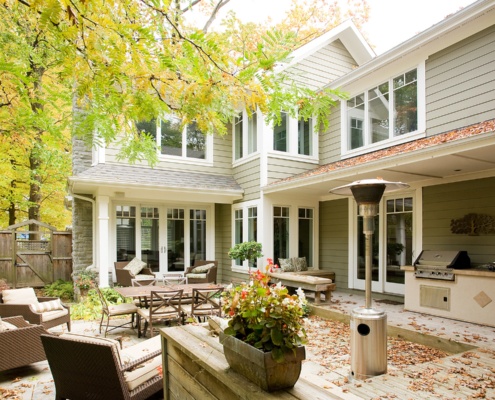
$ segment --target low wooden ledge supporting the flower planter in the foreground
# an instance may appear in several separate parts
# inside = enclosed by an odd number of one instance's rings
[[[331,393],[340,390],[324,389],[314,383],[317,379],[310,381],[301,376],[291,389],[267,392],[229,367],[218,336],[205,326],[164,328],[160,334],[165,399],[307,400],[333,398]]]

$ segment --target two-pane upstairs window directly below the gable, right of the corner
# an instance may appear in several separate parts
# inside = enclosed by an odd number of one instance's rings
[[[313,135],[313,119],[291,118],[286,112],[280,118],[280,123],[273,127],[273,150],[312,156],[317,139]]]

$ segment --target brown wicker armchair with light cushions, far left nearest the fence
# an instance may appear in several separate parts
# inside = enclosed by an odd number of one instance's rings
[[[39,303],[59,300],[58,297],[38,297],[37,299]],[[3,302],[2,293],[0,293],[0,317],[15,317],[21,315],[29,323],[41,325],[45,329],[50,329],[54,326],[67,324],[67,329],[70,331],[70,307],[65,304],[62,304],[62,307],[63,310],[35,312],[32,309],[31,304],[5,304]]]

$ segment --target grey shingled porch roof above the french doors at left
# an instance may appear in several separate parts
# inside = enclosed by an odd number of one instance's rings
[[[228,175],[173,171],[123,164],[97,164],[72,177],[71,180],[95,184],[152,186],[163,189],[243,192],[235,179]]]

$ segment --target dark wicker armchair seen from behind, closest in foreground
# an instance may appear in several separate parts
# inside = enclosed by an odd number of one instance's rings
[[[41,335],[55,399],[147,399],[163,388],[161,338],[120,350],[116,340],[72,333]]]

